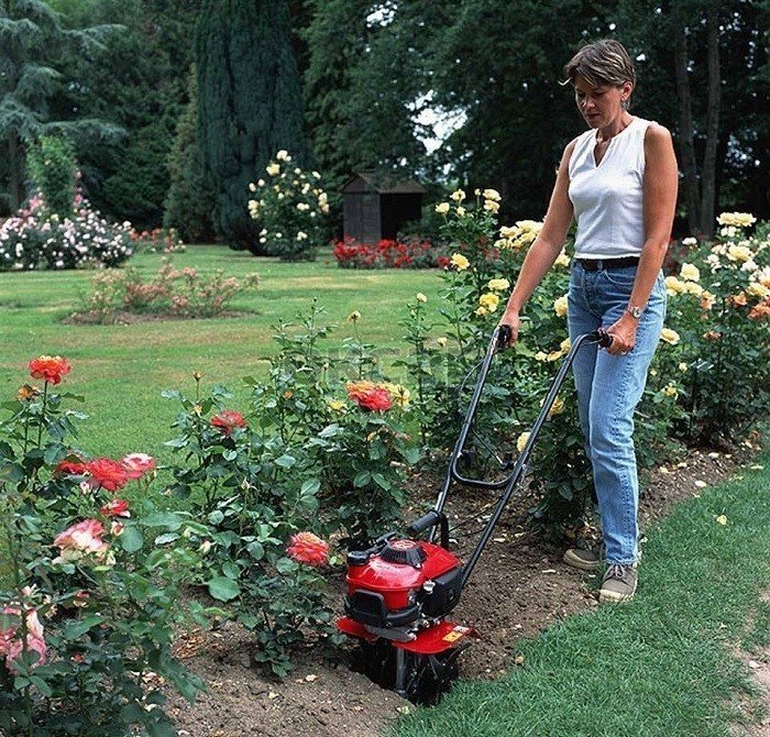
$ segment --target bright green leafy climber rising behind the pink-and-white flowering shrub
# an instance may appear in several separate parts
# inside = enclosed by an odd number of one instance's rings
[[[42,135],[26,154],[30,179],[52,212],[64,218],[73,213],[77,164],[66,139]]]

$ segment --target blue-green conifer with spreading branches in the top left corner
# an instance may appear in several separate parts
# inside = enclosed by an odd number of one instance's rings
[[[7,161],[11,209],[24,199],[24,151],[38,135],[114,135],[114,128],[95,119],[52,120],[48,102],[62,78],[56,64],[64,52],[103,48],[116,30],[109,24],[65,29],[59,13],[42,0],[0,0],[0,157]]]

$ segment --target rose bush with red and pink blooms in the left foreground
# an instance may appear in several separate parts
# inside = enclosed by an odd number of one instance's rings
[[[163,680],[190,700],[201,688],[172,640],[205,623],[178,600],[206,528],[154,509],[148,455],[88,459],[70,444],[82,416],[55,388],[67,361],[30,370],[43,388],[22,386],[0,425],[0,729],[170,734]]]

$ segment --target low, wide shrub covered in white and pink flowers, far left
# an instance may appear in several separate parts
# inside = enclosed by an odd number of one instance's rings
[[[36,195],[0,226],[0,271],[118,266],[133,254],[130,231],[130,223],[109,223],[79,195],[66,218]]]

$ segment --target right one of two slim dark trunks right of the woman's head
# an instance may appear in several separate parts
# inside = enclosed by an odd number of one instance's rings
[[[722,74],[719,69],[719,21],[716,10],[706,16],[706,52],[708,68],[708,98],[706,107],[706,147],[703,152],[700,226],[704,235],[714,234],[714,204],[716,202],[716,150],[719,143],[719,105]]]

